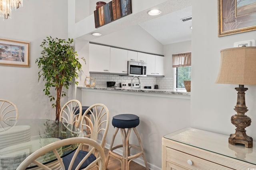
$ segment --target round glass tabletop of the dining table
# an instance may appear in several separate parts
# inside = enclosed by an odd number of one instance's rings
[[[0,121],[0,170],[16,170],[19,164],[34,151],[58,140],[82,137],[80,129],[68,123],[48,119],[18,119]],[[58,149],[65,156],[77,145],[68,145]],[[37,159],[48,164],[54,162],[53,153],[47,153]],[[31,164],[29,168],[35,168]]]

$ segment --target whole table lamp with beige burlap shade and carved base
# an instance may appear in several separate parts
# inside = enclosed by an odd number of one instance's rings
[[[245,113],[248,111],[245,105],[244,85],[256,85],[256,47],[235,47],[220,51],[220,71],[216,83],[238,84],[235,88],[237,102],[234,110],[236,115],[231,117],[231,123],[236,126],[236,133],[231,134],[228,142],[231,145],[244,144],[252,147],[252,137],[246,135],[245,128],[251,125],[251,119]]]

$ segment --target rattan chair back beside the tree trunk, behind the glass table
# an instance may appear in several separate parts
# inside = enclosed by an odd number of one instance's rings
[[[79,112],[78,114],[75,114]],[[76,127],[80,126],[82,119],[82,105],[79,100],[70,100],[62,107],[60,111],[60,121],[69,123]]]

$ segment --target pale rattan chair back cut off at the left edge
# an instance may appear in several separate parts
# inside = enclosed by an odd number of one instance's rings
[[[18,109],[12,102],[0,99],[0,121],[18,119]]]

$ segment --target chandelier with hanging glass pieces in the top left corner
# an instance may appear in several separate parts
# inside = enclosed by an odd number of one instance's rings
[[[12,10],[22,6],[22,0],[0,0],[0,17],[11,18]]]

